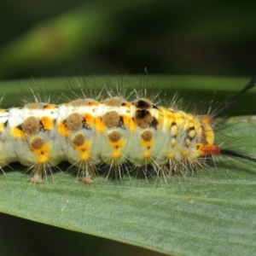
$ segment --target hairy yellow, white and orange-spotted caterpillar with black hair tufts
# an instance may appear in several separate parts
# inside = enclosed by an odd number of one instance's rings
[[[214,155],[256,161],[214,144],[212,119],[255,79],[221,103],[211,115],[194,115],[157,106],[147,97],[131,102],[122,96],[101,101],[85,96],[60,105],[35,101],[0,109],[0,167],[20,162],[32,171],[31,183],[43,183],[52,166],[68,161],[79,180],[94,183],[97,170],[108,176],[153,170],[183,174]],[[103,167],[102,167],[103,166]]]

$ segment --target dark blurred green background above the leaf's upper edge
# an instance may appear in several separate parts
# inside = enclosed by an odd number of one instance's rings
[[[0,79],[255,74],[254,1],[0,3]]]

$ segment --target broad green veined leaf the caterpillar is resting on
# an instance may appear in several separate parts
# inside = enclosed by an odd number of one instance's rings
[[[136,86],[135,80],[138,78],[131,77]],[[205,84],[206,95],[212,93],[211,86],[242,87],[247,83],[247,79],[160,77],[159,87],[165,90],[167,84],[180,86],[184,81],[189,93],[191,87],[195,89],[194,84],[201,91],[201,84]],[[15,93],[17,88],[9,84],[15,83],[3,82],[0,88],[11,88]],[[61,79],[58,83],[45,79],[45,84],[55,84],[55,90],[65,87],[60,85]],[[245,96],[252,95],[255,90]],[[224,148],[255,156],[255,117],[229,119],[224,129],[217,132],[217,143],[223,142]],[[256,163],[222,156],[215,158],[215,165],[166,180],[125,177],[113,181],[99,176],[93,185],[77,182],[74,174],[66,172],[66,163],[61,165],[63,172],[56,172],[44,184],[34,185],[27,182],[28,174],[20,172],[25,168],[17,165],[12,171],[4,169],[6,175],[1,176],[0,211],[160,253],[253,255]]]

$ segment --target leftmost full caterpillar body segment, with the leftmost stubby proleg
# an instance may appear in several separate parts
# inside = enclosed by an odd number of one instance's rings
[[[6,112],[9,113],[5,122],[6,141],[13,148],[9,154],[32,169],[32,183],[42,183],[50,167],[65,159],[55,131],[57,106],[40,102],[23,108],[9,108]]]

